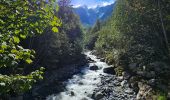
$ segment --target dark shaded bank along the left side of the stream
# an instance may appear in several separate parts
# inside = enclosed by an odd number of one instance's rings
[[[73,75],[80,73],[81,69],[86,67],[88,61],[85,55],[76,61],[74,64],[61,65],[53,70],[46,70],[44,79],[39,81],[33,88],[24,94],[24,100],[45,100],[48,95],[57,94],[64,91],[64,81],[71,78]],[[55,68],[55,67],[53,67]]]

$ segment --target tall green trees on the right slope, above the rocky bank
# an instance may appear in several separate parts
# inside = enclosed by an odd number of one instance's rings
[[[170,3],[168,0],[160,3],[166,31],[169,32]],[[116,49],[121,55],[128,56],[128,63],[161,60],[161,57],[167,56],[168,50],[165,48],[159,11],[158,2],[154,0],[118,0],[112,17],[98,32],[93,33],[98,34],[95,49],[108,53]],[[146,59],[147,62],[144,61]]]

